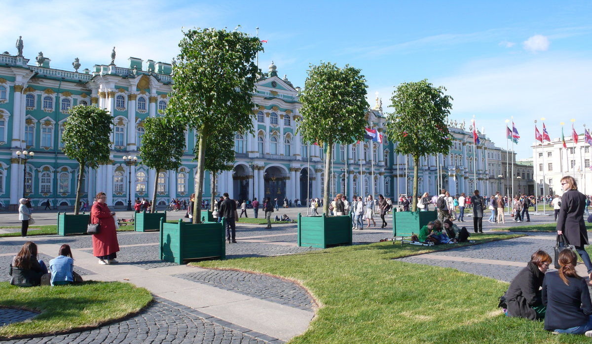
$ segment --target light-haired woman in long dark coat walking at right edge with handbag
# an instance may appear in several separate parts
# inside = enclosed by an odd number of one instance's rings
[[[571,176],[565,176],[561,179],[561,187],[564,190],[561,196],[561,208],[557,216],[557,234],[564,235],[568,244],[575,246],[582,261],[588,270],[588,277],[592,280],[592,262],[584,245],[588,243],[588,232],[584,223],[584,208],[586,206],[586,196],[578,191],[578,185]],[[564,242],[560,243],[561,246]]]

